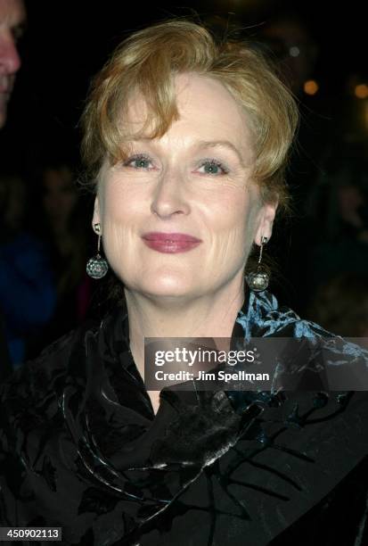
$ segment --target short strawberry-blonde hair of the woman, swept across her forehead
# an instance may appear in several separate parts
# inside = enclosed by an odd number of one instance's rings
[[[124,159],[132,140],[127,120],[129,98],[138,93],[147,103],[143,133],[163,136],[179,117],[175,76],[194,72],[217,79],[247,113],[253,136],[253,179],[265,201],[287,202],[284,170],[298,125],[298,108],[290,91],[266,59],[243,42],[217,44],[208,29],[186,20],[165,21],[139,30],[112,54],[94,78],[82,116],[82,158],[95,185],[102,162]]]

